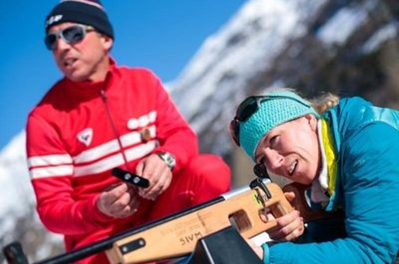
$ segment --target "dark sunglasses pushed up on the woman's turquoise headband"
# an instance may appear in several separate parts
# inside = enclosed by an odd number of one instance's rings
[[[235,117],[230,122],[229,130],[234,142],[238,146],[240,146],[239,142],[240,122],[247,121],[253,114],[255,114],[255,112],[259,109],[261,102],[273,99],[282,99],[282,98],[294,100],[302,105],[311,107],[305,101],[300,101],[296,98],[283,96],[283,95],[250,96],[246,98],[244,101],[242,101],[242,103],[238,106],[237,112],[235,113]]]

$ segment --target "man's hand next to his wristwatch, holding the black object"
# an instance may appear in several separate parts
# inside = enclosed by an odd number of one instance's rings
[[[142,159],[136,167],[136,174],[150,181],[150,187],[139,189],[139,195],[150,200],[155,200],[172,182],[172,171],[157,154]]]

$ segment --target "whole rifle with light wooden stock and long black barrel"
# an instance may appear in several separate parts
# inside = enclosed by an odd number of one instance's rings
[[[303,190],[296,192],[296,197],[302,197],[303,193]],[[102,251],[111,264],[183,257],[192,253],[200,238],[229,226],[234,226],[244,238],[252,238],[275,227],[274,220],[261,220],[259,214],[263,210],[270,210],[275,217],[280,217],[294,209],[277,184],[257,178],[250,188],[233,190],[209,202],[36,264],[68,264]],[[312,217],[306,215],[304,219],[312,220]],[[9,244],[3,252],[8,264],[27,264],[18,243]]]

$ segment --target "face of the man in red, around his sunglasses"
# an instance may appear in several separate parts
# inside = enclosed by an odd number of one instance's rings
[[[56,33],[76,23],[65,22],[49,29]],[[89,31],[77,43],[67,43],[58,38],[52,50],[55,62],[62,73],[72,81],[99,81],[105,78],[108,71],[108,50],[112,39],[95,31]]]

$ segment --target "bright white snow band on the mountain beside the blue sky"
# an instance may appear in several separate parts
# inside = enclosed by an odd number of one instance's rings
[[[325,2],[247,2],[218,33],[204,42],[183,73],[171,84],[172,94],[184,115],[191,119],[209,96],[222,103],[236,92],[234,96],[241,99],[246,82],[265,66],[270,67],[270,62],[288,40],[306,33],[309,17],[314,16]],[[194,94],[195,100],[192,100]]]

